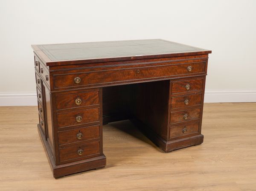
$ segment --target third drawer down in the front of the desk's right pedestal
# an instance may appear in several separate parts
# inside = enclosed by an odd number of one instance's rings
[[[200,108],[171,112],[171,124],[200,119]]]

